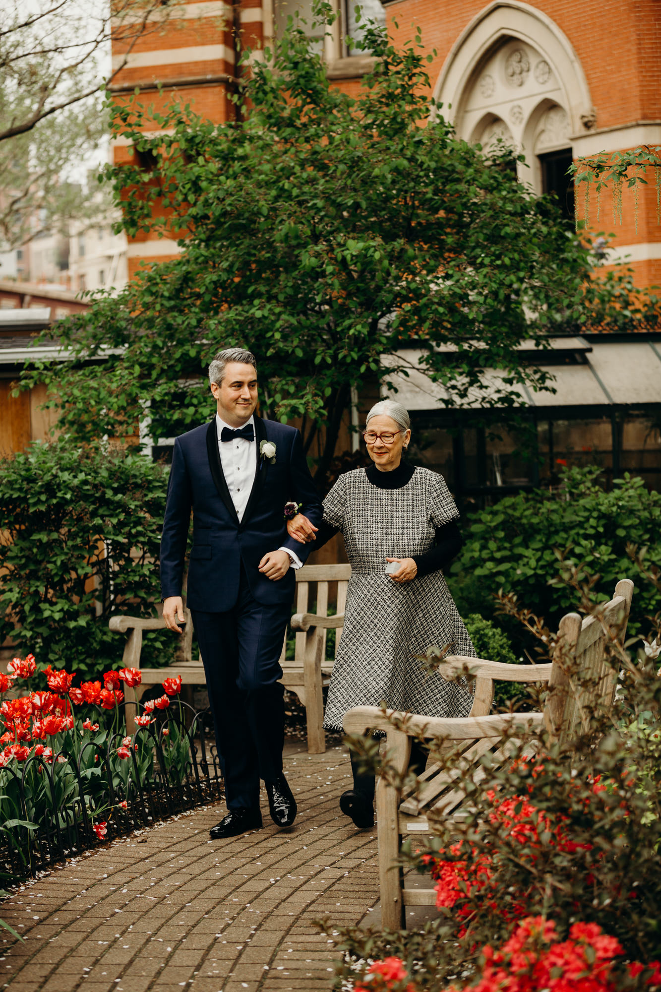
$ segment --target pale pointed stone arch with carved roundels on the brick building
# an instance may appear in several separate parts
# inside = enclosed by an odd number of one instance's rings
[[[487,63],[499,50],[505,51],[498,69],[501,75],[497,78],[497,73],[487,70],[490,67]],[[499,83],[515,96],[523,93],[533,80],[537,87],[556,84],[555,102],[567,114],[570,137],[585,134],[595,125],[588,80],[567,36],[551,18],[530,4],[494,0],[470,22],[453,46],[434,95],[443,103],[441,113],[467,139],[469,135],[463,126],[465,103],[475,87],[479,87],[485,99]],[[510,127],[517,127],[527,116],[525,108],[517,110],[517,106],[514,103],[509,107]],[[474,130],[474,122],[470,130]]]

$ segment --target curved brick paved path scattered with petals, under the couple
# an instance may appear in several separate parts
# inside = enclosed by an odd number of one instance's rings
[[[288,748],[295,828],[210,841],[208,806],[31,881],[0,906],[26,937],[0,946],[12,992],[322,992],[333,952],[312,921],[357,923],[378,899],[376,831],[337,806],[339,747]],[[264,799],[264,797],[263,797]],[[4,931],[0,931],[4,932]]]

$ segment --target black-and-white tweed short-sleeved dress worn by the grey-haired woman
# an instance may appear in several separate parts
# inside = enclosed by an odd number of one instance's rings
[[[428,673],[415,655],[436,645],[475,656],[442,571],[393,582],[386,558],[434,547],[436,528],[459,520],[445,479],[416,468],[400,489],[380,489],[364,468],[340,475],[324,500],[324,521],[342,532],[351,565],[344,629],[332,670],[324,726],[341,730],[352,706],[380,706],[423,716],[467,716],[462,682]]]

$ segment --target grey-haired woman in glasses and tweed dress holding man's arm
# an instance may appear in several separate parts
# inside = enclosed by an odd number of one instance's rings
[[[351,564],[324,726],[341,730],[352,706],[382,703],[424,716],[466,716],[467,687],[428,674],[415,659],[430,645],[475,657],[443,574],[462,547],[455,501],[442,475],[402,461],[411,430],[401,404],[372,407],[363,437],[374,464],[339,476],[319,533],[301,513],[288,525],[292,537],[319,546],[341,531]],[[412,765],[424,767],[425,759],[414,742]],[[361,776],[353,757],[351,764],[354,788],[339,805],[356,826],[369,827],[374,778]]]

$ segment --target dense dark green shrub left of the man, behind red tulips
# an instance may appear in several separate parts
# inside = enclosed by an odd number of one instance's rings
[[[114,666],[115,612],[153,614],[165,470],[139,454],[66,438],[0,460],[0,641],[82,679]],[[167,632],[144,664],[168,663]],[[151,657],[150,657],[151,656]]]

